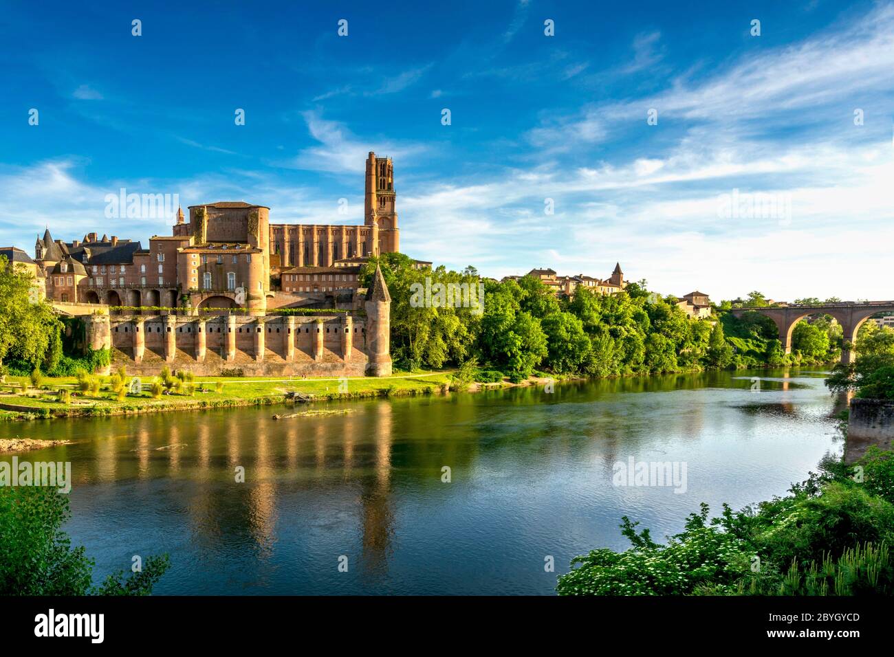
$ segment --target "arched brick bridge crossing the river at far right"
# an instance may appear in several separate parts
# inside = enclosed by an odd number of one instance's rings
[[[841,362],[852,363],[856,357],[856,333],[860,326],[877,313],[894,312],[894,301],[841,301],[818,305],[789,305],[733,308],[733,316],[741,317],[754,310],[763,316],[770,317],[780,332],[780,342],[787,354],[791,353],[791,333],[800,320],[811,315],[831,315],[835,317],[844,330],[844,346],[841,349]]]

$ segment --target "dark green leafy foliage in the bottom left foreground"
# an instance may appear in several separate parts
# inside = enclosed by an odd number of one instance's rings
[[[148,595],[170,568],[166,554],[151,556],[140,572],[93,585],[94,560],[61,529],[70,515],[55,488],[0,488],[0,595]]]

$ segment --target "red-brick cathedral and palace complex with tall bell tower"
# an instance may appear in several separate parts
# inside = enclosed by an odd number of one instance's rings
[[[54,240],[47,229],[33,261],[45,277],[46,298],[252,313],[321,305],[353,295],[370,256],[400,249],[393,163],[373,152],[363,225],[270,223],[269,207],[243,201],[188,209],[188,220],[178,209],[172,233],[149,238],[148,248],[95,232]]]

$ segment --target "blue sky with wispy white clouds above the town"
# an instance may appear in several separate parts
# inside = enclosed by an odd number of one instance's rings
[[[359,223],[375,150],[436,264],[894,298],[890,2],[13,2],[0,34],[0,246],[169,234],[106,219],[122,187]]]

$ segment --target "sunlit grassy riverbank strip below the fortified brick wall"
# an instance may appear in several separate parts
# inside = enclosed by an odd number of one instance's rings
[[[199,376],[192,386],[195,392],[174,392],[153,398],[150,386],[155,376],[140,377],[143,392],[128,394],[119,401],[112,392],[110,376],[99,377],[102,389],[97,395],[80,392],[74,377],[45,377],[40,388],[33,386],[21,392],[20,383],[30,383],[25,376],[7,376],[0,383],[0,404],[27,407],[33,411],[0,409],[0,420],[23,417],[52,417],[72,415],[114,415],[178,409],[205,409],[227,406],[251,406],[274,404],[284,400],[287,392],[299,391],[313,395],[316,400],[354,399],[391,395],[430,394],[440,392],[443,383],[450,379],[451,371],[395,373],[390,377],[349,377],[344,379],[299,377],[220,377]],[[133,377],[128,376],[128,381]],[[223,390],[217,392],[216,383],[223,382]],[[206,392],[201,392],[202,389]],[[59,400],[58,392],[72,393],[70,403]]]

